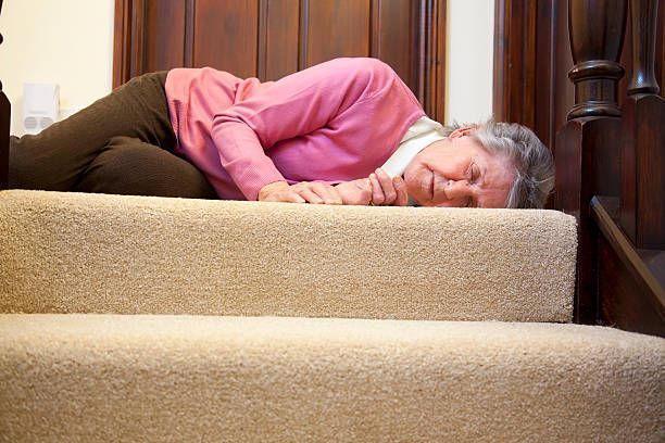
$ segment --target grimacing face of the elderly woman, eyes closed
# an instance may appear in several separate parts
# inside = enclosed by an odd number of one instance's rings
[[[406,166],[409,195],[421,206],[505,207],[514,167],[461,128],[421,151]]]

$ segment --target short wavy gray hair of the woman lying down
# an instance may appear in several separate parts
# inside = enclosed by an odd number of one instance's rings
[[[464,125],[466,126],[466,125]],[[515,181],[506,207],[542,208],[554,188],[552,152],[526,126],[488,121],[476,126],[469,136],[488,152],[506,157],[515,167]],[[461,127],[446,126],[446,135]]]

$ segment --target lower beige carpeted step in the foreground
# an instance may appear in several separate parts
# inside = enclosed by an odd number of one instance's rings
[[[577,325],[1,315],[0,435],[655,442],[664,357]]]

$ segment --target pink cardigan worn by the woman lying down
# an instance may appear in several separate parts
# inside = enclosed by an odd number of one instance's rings
[[[278,180],[367,177],[425,115],[376,59],[336,59],[266,83],[177,68],[166,78],[166,97],[176,153],[227,200],[256,200]]]

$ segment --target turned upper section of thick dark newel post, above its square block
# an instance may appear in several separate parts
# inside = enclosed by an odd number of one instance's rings
[[[568,73],[575,84],[575,105],[568,119],[622,115],[616,91],[624,76],[618,60],[626,10],[627,2],[622,0],[568,1],[568,33],[575,63]]]

